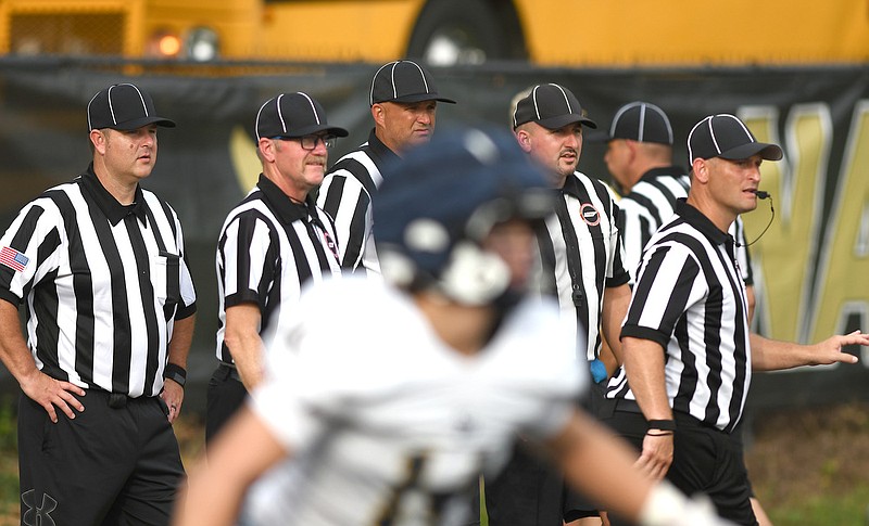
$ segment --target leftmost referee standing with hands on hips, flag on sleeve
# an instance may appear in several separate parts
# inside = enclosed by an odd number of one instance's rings
[[[175,210],[140,185],[158,126],[175,123],[140,88],[97,93],[92,163],[0,239],[0,357],[26,395],[22,524],[168,522],[196,293]]]

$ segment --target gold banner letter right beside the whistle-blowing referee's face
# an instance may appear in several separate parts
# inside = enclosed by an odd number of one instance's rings
[[[778,140],[778,113],[772,107],[747,106],[739,112],[758,141]],[[750,248],[758,287],[758,308],[766,336],[803,341],[811,302],[811,280],[818,229],[823,214],[823,191],[832,142],[830,111],[826,104],[803,104],[789,113],[782,144],[785,158],[765,162],[760,189],[772,196],[776,218]],[[745,214],[746,239],[757,239],[769,222],[769,205]]]

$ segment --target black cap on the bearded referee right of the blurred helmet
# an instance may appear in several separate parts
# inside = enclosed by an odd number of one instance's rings
[[[576,95],[557,84],[541,84],[531,88],[527,97],[519,100],[513,113],[513,129],[525,123],[557,130],[572,123],[597,128],[594,120],[585,116]]]

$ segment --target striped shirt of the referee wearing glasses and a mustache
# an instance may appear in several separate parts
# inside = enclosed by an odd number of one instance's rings
[[[308,281],[341,274],[331,218],[308,196],[293,203],[261,175],[256,187],[227,216],[217,242],[217,359],[232,363],[224,343],[226,309],[254,303],[260,334],[280,322],[284,306],[299,300]]]

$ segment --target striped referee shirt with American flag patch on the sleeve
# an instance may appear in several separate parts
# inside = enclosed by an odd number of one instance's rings
[[[92,165],[28,203],[0,239],[0,297],[24,302],[49,376],[130,397],[163,388],[176,319],[196,312],[175,210],[136,189],[118,203]]]

